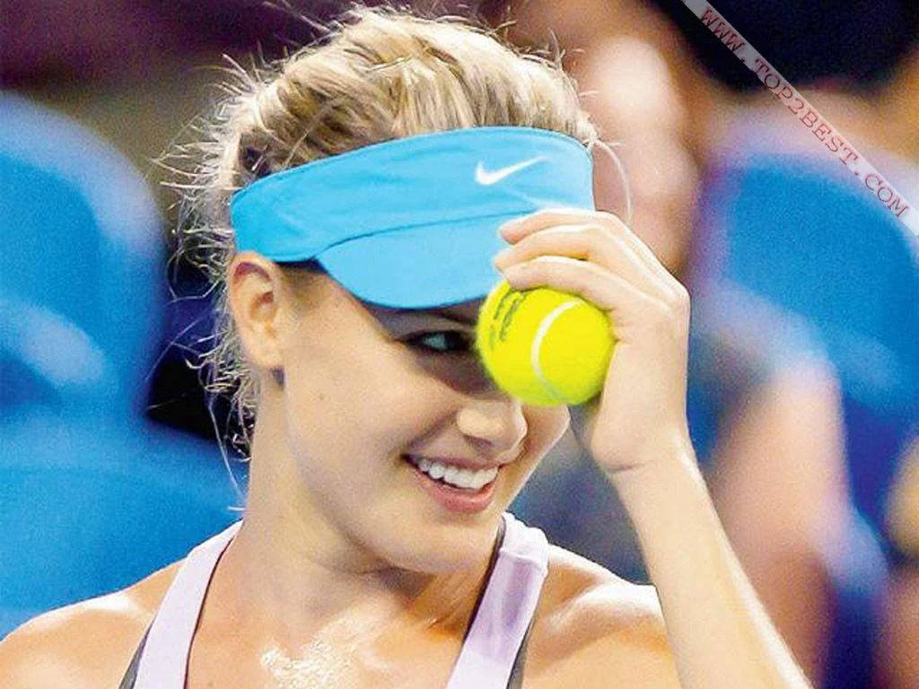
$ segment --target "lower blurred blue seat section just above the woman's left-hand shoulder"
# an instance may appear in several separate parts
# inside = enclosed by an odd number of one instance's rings
[[[142,579],[240,517],[215,446],[153,424],[5,410],[0,456],[0,638]]]

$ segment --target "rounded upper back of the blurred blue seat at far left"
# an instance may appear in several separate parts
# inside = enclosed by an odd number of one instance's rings
[[[166,289],[162,220],[141,175],[70,120],[0,93],[0,218],[0,291],[100,344],[121,389],[107,408],[141,409]]]

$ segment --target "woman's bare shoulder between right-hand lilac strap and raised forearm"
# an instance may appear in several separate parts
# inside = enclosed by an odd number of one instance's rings
[[[655,588],[550,545],[524,676],[533,689],[620,683],[677,689]]]

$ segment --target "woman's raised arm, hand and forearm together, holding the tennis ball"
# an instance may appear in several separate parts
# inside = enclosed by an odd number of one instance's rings
[[[505,223],[513,288],[578,294],[617,339],[606,385],[573,431],[618,491],[664,612],[683,689],[806,689],[734,554],[689,442],[689,297],[615,216],[545,210]]]

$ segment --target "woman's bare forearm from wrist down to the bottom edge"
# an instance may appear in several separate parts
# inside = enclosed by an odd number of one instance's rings
[[[810,688],[733,553],[692,446],[662,443],[654,455],[611,480],[661,600],[683,689]]]

